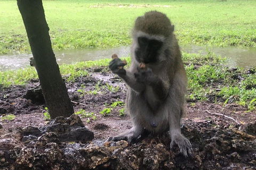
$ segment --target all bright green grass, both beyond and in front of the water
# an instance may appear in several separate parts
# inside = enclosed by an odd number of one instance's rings
[[[30,53],[16,1],[0,0],[0,54]],[[201,1],[43,1],[56,49],[128,46],[134,20],[146,11],[158,10],[175,24],[181,45],[256,47],[254,0]],[[126,58],[129,62],[129,58]],[[256,107],[256,70],[230,71],[214,54],[183,53],[192,101]],[[86,75],[84,67],[107,66],[110,60],[60,66],[67,81]],[[37,78],[34,68],[0,72],[0,88],[25,84]],[[241,79],[242,78],[242,79]]]

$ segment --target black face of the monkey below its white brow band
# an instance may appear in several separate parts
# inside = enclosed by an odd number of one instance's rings
[[[156,63],[163,42],[156,39],[148,39],[146,37],[138,38],[138,48],[135,50],[135,58],[140,63]]]

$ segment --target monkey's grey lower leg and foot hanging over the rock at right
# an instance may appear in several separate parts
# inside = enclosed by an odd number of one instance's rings
[[[175,109],[175,108],[173,108]],[[180,110],[179,108],[176,108],[176,111]],[[183,112],[183,109],[182,111]],[[175,113],[175,110],[172,111],[172,113],[169,113],[169,118],[170,118],[170,136],[171,136],[171,149],[172,147],[177,144],[178,147],[180,148],[180,152],[184,155],[184,156],[188,156],[192,154],[192,146],[191,143],[189,142],[189,140],[187,138],[185,138],[182,134],[181,134],[181,130],[180,130],[180,119],[181,119],[181,115],[182,113]]]

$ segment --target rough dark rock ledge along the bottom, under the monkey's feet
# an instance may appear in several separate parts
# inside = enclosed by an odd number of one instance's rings
[[[91,142],[86,146],[59,143],[57,134],[46,132],[36,149],[15,143],[16,147],[0,151],[0,169],[255,169],[255,136],[234,129],[196,131],[184,126],[182,131],[190,138],[194,156],[184,157],[178,147],[170,150],[165,135],[149,135],[136,143],[111,141],[97,146]]]

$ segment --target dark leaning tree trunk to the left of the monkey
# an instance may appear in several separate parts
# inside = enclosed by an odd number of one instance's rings
[[[51,46],[42,0],[17,0],[51,118],[74,113]]]

